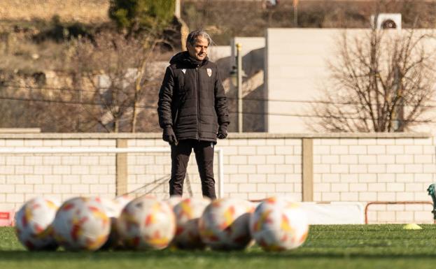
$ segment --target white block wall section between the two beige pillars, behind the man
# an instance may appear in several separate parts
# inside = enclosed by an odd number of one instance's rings
[[[158,139],[129,140],[129,147],[162,147]],[[224,152],[224,194],[258,200],[272,195],[290,196],[301,201],[301,139],[253,138],[218,141],[217,148]],[[135,194],[153,192],[168,195],[171,159],[169,154],[129,154],[128,191]],[[218,181],[218,156],[214,173]],[[201,196],[201,184],[192,152],[188,165],[190,184],[185,182],[185,195]],[[218,183],[218,182],[217,182]],[[218,186],[217,186],[218,193]]]

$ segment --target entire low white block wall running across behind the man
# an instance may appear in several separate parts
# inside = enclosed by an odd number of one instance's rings
[[[0,134],[0,147],[162,147],[160,134]],[[435,138],[427,134],[237,134],[220,140],[225,196],[250,200],[281,195],[302,201],[302,138],[312,138],[316,202],[431,201]],[[216,179],[218,178],[216,161]],[[169,154],[128,154],[127,190],[168,197]],[[192,154],[188,167],[194,196],[201,196]],[[0,154],[0,211],[34,196],[60,201],[73,196],[115,196],[115,154]],[[185,185],[188,196],[188,186]],[[372,205],[371,223],[425,222],[431,205]]]

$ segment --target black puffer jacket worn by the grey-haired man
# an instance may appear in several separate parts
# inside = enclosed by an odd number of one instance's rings
[[[229,115],[218,67],[209,59],[194,64],[188,52],[171,58],[159,92],[162,129],[172,125],[178,140],[216,142],[218,127],[227,130]]]

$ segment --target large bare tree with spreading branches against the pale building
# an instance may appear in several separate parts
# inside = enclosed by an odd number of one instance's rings
[[[430,31],[344,31],[313,111],[314,130],[393,132],[430,122],[435,43]],[[320,104],[321,103],[321,104]]]

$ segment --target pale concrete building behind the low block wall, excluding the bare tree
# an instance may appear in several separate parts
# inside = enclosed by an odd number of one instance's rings
[[[332,85],[329,63],[337,61],[338,40],[346,31],[347,36],[363,36],[369,29],[267,29],[262,38],[235,38],[243,51],[244,92],[255,91],[255,96],[244,96],[244,119],[258,126],[245,126],[244,131],[267,131],[269,133],[307,133],[314,131],[311,124],[316,120],[312,112],[314,101],[321,92]],[[397,30],[388,34],[398,33]],[[408,30],[402,30],[407,33]],[[428,34],[431,30],[416,30]],[[436,48],[434,38],[424,38],[422,45],[427,52]],[[265,49],[262,44],[265,43]],[[254,46],[254,47],[253,47]],[[232,45],[234,50],[234,45]],[[253,48],[253,49],[251,49]],[[260,53],[259,53],[260,52]],[[234,55],[234,52],[233,54]],[[433,55],[434,56],[434,55]],[[232,56],[233,57],[233,56]],[[234,59],[234,57],[233,57]],[[252,69],[264,64],[264,80],[258,80],[253,89]],[[253,68],[253,66],[256,66]],[[262,85],[262,87],[260,87]],[[230,99],[234,98],[230,92]],[[434,103],[434,102],[433,102]],[[434,104],[428,103],[431,107]],[[234,105],[233,105],[234,106]],[[254,110],[253,110],[254,109]],[[253,119],[253,117],[257,119]],[[425,118],[434,118],[435,109],[430,108]],[[414,126],[413,131],[433,132],[434,123]],[[316,131],[316,130],[315,130]]]

